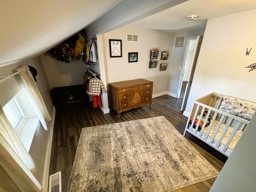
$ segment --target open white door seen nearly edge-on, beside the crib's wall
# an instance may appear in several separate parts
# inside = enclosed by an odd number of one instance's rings
[[[185,108],[186,108],[186,104],[187,104],[187,101],[188,101],[188,95],[189,95],[189,92],[190,92],[190,87],[192,85],[194,72],[195,72],[195,69],[196,69],[196,62],[197,62],[197,59],[198,59],[198,54],[199,54],[199,51],[200,51],[202,40],[203,40],[203,36],[197,36],[196,46],[194,48],[194,53],[193,53],[193,56],[192,56],[191,59],[188,56],[188,50],[190,50],[190,46],[193,44],[192,43],[193,39],[188,39],[187,44],[186,44],[186,51],[185,51],[185,55],[184,55],[183,65],[184,66],[185,65],[190,66],[190,70],[189,70],[189,74],[188,74],[188,80],[186,81],[187,84],[186,84],[186,89],[185,89],[185,93],[184,93],[182,106],[181,106],[181,109],[180,109],[181,111],[184,111]],[[191,62],[191,64],[186,64],[188,62]]]

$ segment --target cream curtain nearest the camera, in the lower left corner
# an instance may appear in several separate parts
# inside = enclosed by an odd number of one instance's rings
[[[34,173],[37,168],[30,154],[24,148],[14,128],[6,118],[0,105],[0,188],[6,190],[6,181],[10,188],[18,192],[41,192],[42,186]],[[6,190],[10,191],[10,190]]]

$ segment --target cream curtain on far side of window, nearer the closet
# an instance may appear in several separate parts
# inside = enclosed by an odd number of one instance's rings
[[[36,111],[36,114],[45,130],[47,129],[46,122],[52,120],[50,117],[50,114],[46,108],[46,105],[44,103],[44,100],[42,98],[42,95],[40,94],[40,91],[38,90],[38,87],[36,85],[36,82],[29,70],[29,67],[24,65],[17,69],[17,71],[20,72],[20,75],[22,76],[25,84],[25,88],[28,93],[28,98],[30,99],[30,102]]]

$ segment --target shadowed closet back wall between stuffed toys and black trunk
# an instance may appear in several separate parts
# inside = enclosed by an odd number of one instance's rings
[[[47,52],[40,56],[48,78],[50,88],[79,85],[83,83],[83,75],[87,70],[82,58],[66,63],[52,58]]]

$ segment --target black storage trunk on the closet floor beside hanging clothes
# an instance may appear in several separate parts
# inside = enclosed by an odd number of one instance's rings
[[[54,87],[50,94],[56,109],[81,106],[86,99],[86,90],[83,89],[83,85]]]

